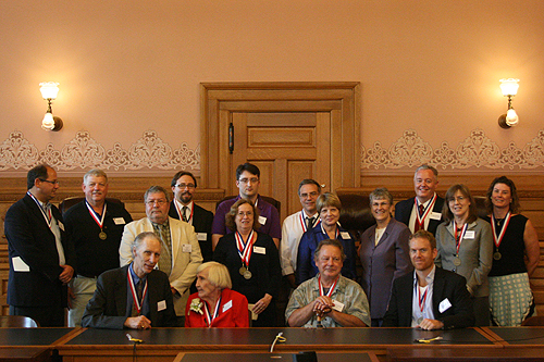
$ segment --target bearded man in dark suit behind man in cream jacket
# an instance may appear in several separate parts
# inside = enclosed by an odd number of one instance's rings
[[[213,255],[213,251],[211,250],[213,213],[193,201],[193,196],[197,188],[197,179],[190,172],[180,171],[172,178],[171,186],[174,199],[170,203],[170,217],[183,220],[195,227],[203,261],[211,261]]]

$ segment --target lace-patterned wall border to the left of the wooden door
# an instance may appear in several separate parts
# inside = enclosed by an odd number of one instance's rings
[[[48,143],[44,150],[38,150],[20,130],[12,132],[0,145],[0,171],[30,170],[40,163],[48,163],[58,171],[94,167],[109,171],[199,170],[200,146],[191,150],[182,142],[174,150],[154,130],[146,130],[128,149],[115,142],[107,150],[86,130],[77,132],[61,149]]]

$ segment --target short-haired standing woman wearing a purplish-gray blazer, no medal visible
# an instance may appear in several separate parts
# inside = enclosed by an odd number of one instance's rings
[[[381,327],[393,280],[413,270],[408,247],[411,233],[391,216],[393,196],[386,188],[376,188],[369,198],[376,225],[361,235],[361,286],[369,299],[372,327]]]

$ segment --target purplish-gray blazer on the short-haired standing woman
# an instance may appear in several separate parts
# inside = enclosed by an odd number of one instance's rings
[[[380,242],[375,245],[375,228],[361,235],[359,257],[362,265],[361,286],[370,303],[370,316],[382,319],[390,302],[393,280],[411,272],[408,237],[410,229],[392,219]]]

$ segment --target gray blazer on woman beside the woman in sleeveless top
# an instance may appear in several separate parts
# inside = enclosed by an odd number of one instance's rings
[[[487,297],[490,285],[487,274],[493,263],[493,235],[491,225],[482,219],[469,224],[467,232],[474,232],[473,238],[465,238],[459,247],[461,264],[454,265],[456,242],[454,237],[454,222],[443,223],[436,229],[436,249],[438,255],[434,260],[437,266],[445,270],[455,270],[467,278],[467,286],[473,297]]]

